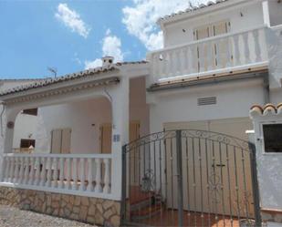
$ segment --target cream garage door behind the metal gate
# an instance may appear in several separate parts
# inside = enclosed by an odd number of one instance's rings
[[[164,124],[164,128],[166,130],[199,129],[214,131],[247,140],[245,130],[252,129],[252,123],[248,118],[220,119],[167,123]],[[242,153],[242,150],[234,152],[233,147],[228,147],[226,150],[226,146],[223,144],[219,145],[219,143],[208,139],[190,138],[182,139],[182,142],[184,210],[229,215],[230,213],[236,214],[239,209],[240,215],[244,216],[246,192],[247,196],[250,197],[247,201],[249,202],[247,212],[251,216],[254,211],[251,204],[250,162],[246,152]],[[166,145],[168,150],[167,205],[170,208],[177,209],[176,154],[175,149],[170,149],[171,147],[175,148],[175,146],[170,145]],[[228,159],[226,155],[228,155]],[[227,160],[229,163],[227,163]],[[207,185],[210,188],[207,188]],[[220,187],[221,185],[223,185],[223,188]],[[238,194],[235,190],[236,185],[239,188]],[[213,187],[216,190],[212,190]],[[236,201],[242,204],[242,209],[241,207],[238,208]]]

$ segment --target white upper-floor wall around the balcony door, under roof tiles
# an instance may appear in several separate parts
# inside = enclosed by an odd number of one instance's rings
[[[195,27],[209,25],[228,19],[231,24],[231,33],[263,26],[264,18],[262,4],[256,3],[247,6],[242,5],[241,7],[230,7],[222,12],[214,11],[210,14],[195,16],[184,21],[164,26],[164,47],[190,43],[193,41],[193,29]],[[183,29],[185,29],[185,32],[183,32]]]

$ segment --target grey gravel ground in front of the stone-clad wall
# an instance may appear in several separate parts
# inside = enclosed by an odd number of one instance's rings
[[[22,211],[0,205],[0,227],[93,227],[94,225],[52,217],[37,212]]]

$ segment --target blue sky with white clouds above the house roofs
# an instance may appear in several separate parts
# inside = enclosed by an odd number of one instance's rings
[[[186,0],[0,0],[1,78],[50,77],[118,61],[145,58],[162,47],[155,26]]]

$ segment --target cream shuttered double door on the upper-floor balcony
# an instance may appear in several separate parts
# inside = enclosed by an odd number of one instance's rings
[[[220,36],[230,32],[230,22],[221,21],[211,25],[200,26],[194,29],[194,40]],[[197,67],[199,72],[208,71],[216,67],[225,67],[227,59],[224,57],[229,49],[227,39],[216,40],[213,43],[204,42],[196,48]],[[232,55],[230,55],[231,57]]]

